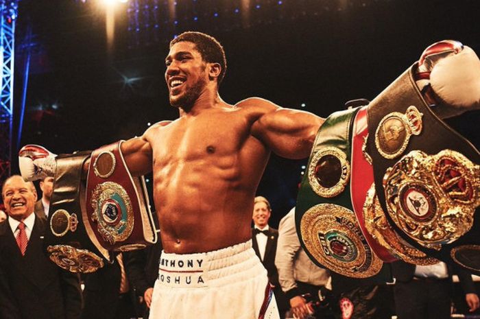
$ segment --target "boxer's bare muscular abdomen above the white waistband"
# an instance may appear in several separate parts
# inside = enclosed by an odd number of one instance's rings
[[[239,172],[239,165],[222,168],[219,161],[208,162],[154,167],[154,201],[165,252],[208,252],[252,238],[259,182],[253,177],[261,172],[252,174],[248,169],[249,174]]]

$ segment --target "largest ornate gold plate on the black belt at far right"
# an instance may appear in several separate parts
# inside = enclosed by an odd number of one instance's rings
[[[453,150],[412,151],[383,177],[396,226],[427,248],[440,250],[467,233],[480,204],[480,167]]]

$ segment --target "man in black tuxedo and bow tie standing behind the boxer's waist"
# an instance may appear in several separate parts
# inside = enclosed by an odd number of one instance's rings
[[[274,294],[280,312],[280,318],[289,309],[287,296],[282,291],[278,282],[278,270],[275,266],[276,245],[278,241],[278,231],[268,226],[268,221],[272,215],[272,209],[267,198],[257,196],[254,199],[252,220],[254,228],[252,229],[252,246],[256,255],[267,269],[268,279],[274,286]]]

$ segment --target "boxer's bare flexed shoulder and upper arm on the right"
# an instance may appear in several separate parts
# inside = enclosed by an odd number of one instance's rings
[[[253,97],[241,104],[254,105],[261,115],[252,126],[252,135],[270,150],[285,158],[306,158],[324,119],[312,113],[281,108],[265,99]]]

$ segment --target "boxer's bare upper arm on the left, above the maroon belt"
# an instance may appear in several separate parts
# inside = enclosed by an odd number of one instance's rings
[[[152,172],[152,146],[143,137],[135,137],[121,144],[121,152],[130,174],[141,176]]]

